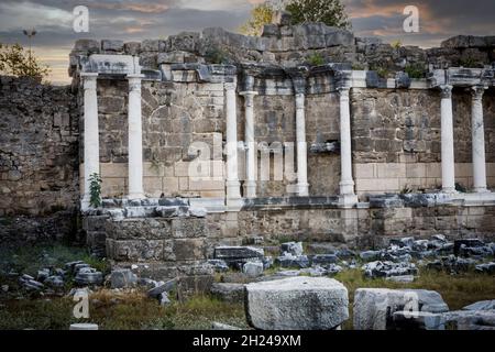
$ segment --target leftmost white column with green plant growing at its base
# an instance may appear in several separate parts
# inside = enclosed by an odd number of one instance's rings
[[[89,207],[89,178],[92,174],[100,174],[100,142],[98,132],[98,74],[82,73],[80,77],[85,90],[85,194],[82,209]]]

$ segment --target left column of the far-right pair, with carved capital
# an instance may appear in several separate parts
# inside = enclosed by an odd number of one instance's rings
[[[442,191],[455,193],[455,164],[453,142],[452,86],[440,86],[441,89],[441,157]]]

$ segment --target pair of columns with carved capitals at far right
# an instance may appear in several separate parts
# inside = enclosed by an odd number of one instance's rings
[[[442,191],[455,193],[454,134],[452,112],[452,86],[443,85],[441,89],[441,168]],[[473,160],[473,190],[487,193],[485,131],[483,123],[483,94],[486,87],[471,87],[471,130]]]

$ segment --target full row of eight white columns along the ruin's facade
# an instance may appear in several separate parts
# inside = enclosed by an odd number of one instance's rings
[[[143,189],[143,147],[141,118],[141,80],[143,75],[128,75],[129,80],[129,198],[144,198]],[[99,174],[99,131],[98,131],[98,74],[81,74],[85,98],[85,195],[82,202],[89,204],[90,176]],[[246,182],[245,197],[256,196],[256,150],[254,141],[254,79],[248,77],[248,89],[241,92],[245,108]],[[441,86],[441,169],[442,190],[455,193],[454,140],[452,113],[452,86]],[[241,198],[238,175],[238,133],[237,133],[237,81],[224,84],[227,114],[227,199]],[[485,139],[483,127],[483,86],[472,87],[472,153],[473,183],[476,193],[487,191]],[[341,206],[352,207],[358,198],[352,177],[351,116],[349,87],[339,88],[340,136],[341,136]],[[296,91],[296,145],[297,145],[297,194],[308,196],[307,142],[305,94]]]

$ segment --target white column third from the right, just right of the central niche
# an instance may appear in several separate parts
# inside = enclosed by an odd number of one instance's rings
[[[340,205],[352,208],[358,202],[352,177],[351,111],[349,87],[339,88],[340,97]]]

